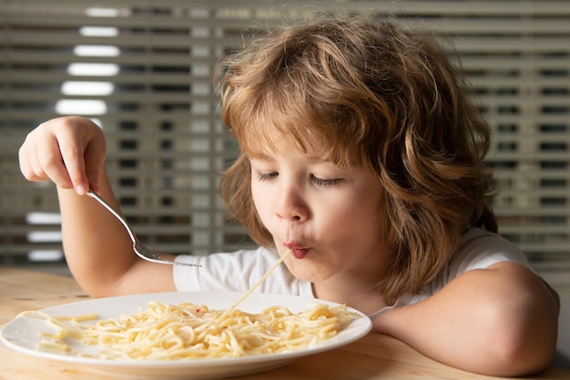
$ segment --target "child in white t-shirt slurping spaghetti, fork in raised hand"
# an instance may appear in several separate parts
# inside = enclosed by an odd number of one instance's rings
[[[220,188],[260,248],[133,255],[97,125],[63,117],[20,149],[31,181],[57,185],[67,263],[94,296],[246,291],[278,255],[268,293],[345,303],[425,355],[468,371],[524,375],[555,351],[557,295],[499,235],[483,163],[490,129],[432,38],[384,19],[321,18],[227,56],[217,83],[242,154]]]

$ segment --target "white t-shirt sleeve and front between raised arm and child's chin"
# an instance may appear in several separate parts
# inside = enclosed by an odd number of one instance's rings
[[[204,256],[178,255],[177,261],[199,267],[173,265],[178,291],[245,292],[279,260],[279,255],[265,248],[240,250]],[[310,296],[310,284],[301,282],[281,264],[261,283],[256,292]]]

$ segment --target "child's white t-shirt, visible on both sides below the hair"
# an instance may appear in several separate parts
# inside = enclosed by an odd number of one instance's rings
[[[278,259],[276,253],[263,247],[206,256],[178,255],[177,261],[202,266],[195,268],[173,265],[174,283],[178,291],[245,292],[265,275]],[[373,319],[393,307],[418,303],[464,272],[484,269],[504,261],[530,268],[523,252],[504,237],[481,228],[471,228],[462,236],[450,262],[443,266],[432,282],[422,287],[419,294],[402,295],[395,305],[385,307],[370,316]],[[310,282],[301,281],[291,275],[286,265],[280,265],[256,292],[314,297]]]

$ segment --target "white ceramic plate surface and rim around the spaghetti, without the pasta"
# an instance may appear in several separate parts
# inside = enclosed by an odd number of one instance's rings
[[[158,301],[170,305],[192,302],[194,304],[208,305],[210,309],[224,310],[238,301],[241,295],[242,294],[231,292],[176,292],[124,295],[47,307],[42,311],[49,315],[62,316],[97,313],[101,319],[107,319],[116,318],[121,314],[135,314],[140,307],[147,308],[149,301]],[[298,313],[308,310],[310,305],[315,302],[336,305],[321,300],[291,295],[265,295],[254,293],[249,295],[238,308],[249,313],[259,313],[266,307],[281,305],[287,307],[293,313]],[[351,309],[351,311],[359,313],[353,309]],[[16,316],[14,320],[7,323],[2,328],[0,338],[5,345],[25,354],[79,365],[87,365],[96,371],[111,373],[113,375],[160,379],[204,379],[248,375],[268,371],[287,365],[301,356],[312,355],[340,347],[341,345],[347,345],[360,339],[363,335],[368,334],[371,329],[372,322],[370,318],[366,315],[362,315],[361,318],[352,321],[351,325],[348,325],[339,335],[323,341],[319,345],[295,352],[230,359],[176,360],[166,362],[108,360],[39,350],[36,348],[36,343],[41,339],[40,333],[49,332],[50,329],[45,321],[28,316]],[[72,347],[86,354],[94,353],[93,346],[82,345],[79,342],[73,343]]]

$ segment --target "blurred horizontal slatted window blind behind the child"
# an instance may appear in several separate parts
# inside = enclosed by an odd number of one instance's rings
[[[251,246],[224,214],[237,146],[211,70],[263,28],[310,14],[390,13],[445,35],[494,128],[500,233],[541,269],[570,267],[570,1],[0,0],[0,253],[61,251],[56,191],[19,174],[17,147],[57,115],[92,117],[122,209],[158,252]],[[258,28],[252,26],[259,26]]]

